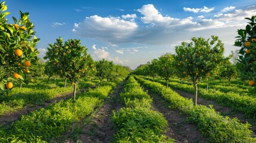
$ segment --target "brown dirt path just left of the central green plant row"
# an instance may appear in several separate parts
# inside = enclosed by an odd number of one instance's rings
[[[113,128],[114,124],[112,123],[111,116],[113,110],[117,111],[122,107],[119,94],[124,91],[124,84],[125,80],[103,102],[103,105],[98,108],[92,119],[85,119],[73,126],[69,132],[64,133],[61,137],[64,139],[63,142],[113,142],[115,140],[113,136],[115,129]]]

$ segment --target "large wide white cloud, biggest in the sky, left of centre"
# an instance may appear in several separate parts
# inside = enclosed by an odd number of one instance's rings
[[[99,41],[125,41],[137,29],[137,24],[116,17],[100,17],[93,15],[84,21],[74,24],[73,32],[85,38],[95,38]]]

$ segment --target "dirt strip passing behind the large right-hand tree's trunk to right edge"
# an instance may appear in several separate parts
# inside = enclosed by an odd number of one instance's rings
[[[190,94],[188,92],[184,92],[184,91],[180,91],[178,89],[172,89],[173,91],[177,92],[178,94],[180,94],[181,96],[183,97],[186,97],[186,98],[192,98],[194,95],[193,94]],[[233,111],[230,107],[225,107],[225,106],[221,106],[220,104],[218,104],[217,102],[215,101],[212,101],[212,100],[205,100],[204,98],[201,98],[201,97],[198,97],[198,104],[201,104],[201,105],[213,105],[213,108],[220,112],[221,115],[223,116],[229,116],[231,118],[233,117],[236,117],[238,118],[238,120],[240,120],[240,122],[242,123],[246,123],[248,122],[249,124],[252,125],[252,128],[251,130],[254,132],[254,134],[256,135],[256,122],[255,122],[255,119],[246,119],[242,113],[238,113],[238,112],[235,112]]]

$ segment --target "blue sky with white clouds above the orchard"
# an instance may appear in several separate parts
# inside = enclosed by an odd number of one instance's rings
[[[220,37],[225,55],[239,49],[233,46],[237,30],[256,14],[255,0],[215,1],[31,1],[9,0],[11,16],[28,12],[43,57],[48,43],[61,36],[81,39],[94,60],[106,58],[135,69],[193,36]]]

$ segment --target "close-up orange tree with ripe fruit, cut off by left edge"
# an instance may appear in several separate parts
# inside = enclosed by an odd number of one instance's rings
[[[13,88],[13,81],[24,80],[24,74],[38,60],[38,50],[34,47],[39,39],[33,31],[29,13],[20,11],[20,18],[13,17],[14,23],[5,18],[8,12],[5,1],[0,4],[0,88]],[[34,36],[33,36],[34,35]],[[32,37],[33,36],[33,37]]]

